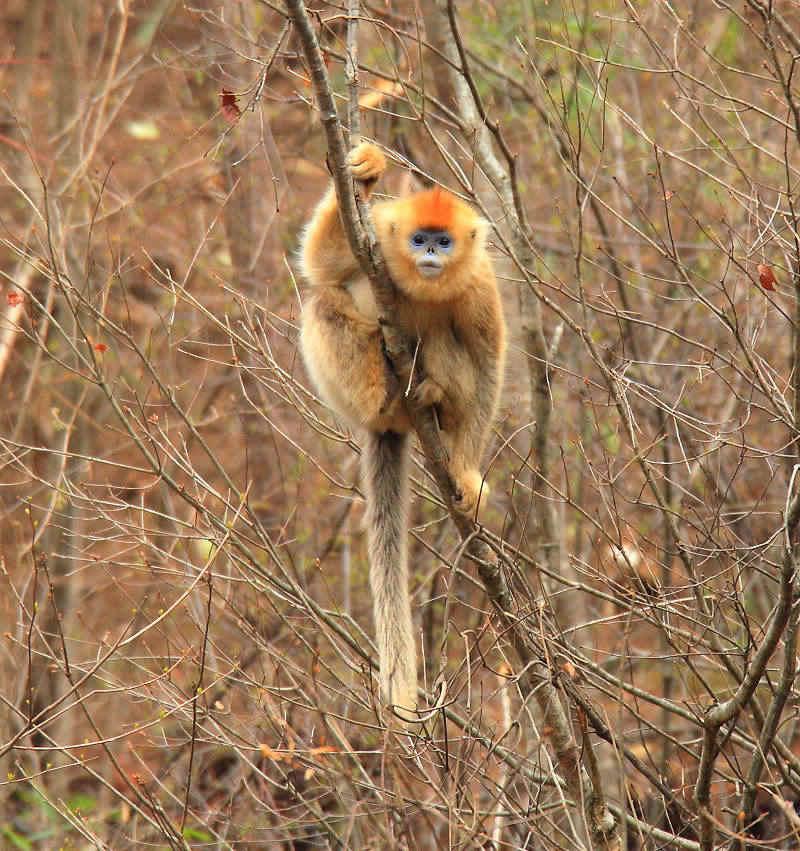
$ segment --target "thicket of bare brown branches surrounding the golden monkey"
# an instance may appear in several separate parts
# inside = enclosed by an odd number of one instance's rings
[[[0,20],[0,844],[796,847],[797,4]],[[480,527],[415,456],[412,735],[297,351],[356,135],[511,336]]]

